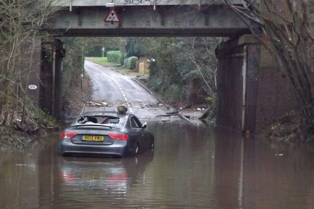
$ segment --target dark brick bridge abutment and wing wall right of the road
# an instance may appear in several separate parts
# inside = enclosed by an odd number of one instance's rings
[[[245,130],[255,133],[275,117],[299,109],[290,81],[283,76],[270,53],[252,35],[219,44],[216,57],[217,125],[241,130],[242,111],[246,111]],[[245,66],[246,106],[243,107]]]

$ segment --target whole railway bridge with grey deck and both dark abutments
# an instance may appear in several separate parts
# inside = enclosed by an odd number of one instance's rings
[[[241,6],[243,1],[232,3]],[[34,68],[31,83],[39,88],[28,91],[34,104],[53,115],[62,108],[62,36],[229,37],[216,49],[217,124],[256,132],[297,107],[275,61],[225,5],[203,0],[64,0],[54,6],[60,10],[44,27],[53,35],[40,41],[34,53],[41,65]]]

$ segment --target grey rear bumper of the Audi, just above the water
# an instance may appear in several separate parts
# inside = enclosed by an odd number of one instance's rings
[[[69,138],[61,138],[59,150],[62,155],[97,155],[108,157],[126,157],[130,150],[126,140],[116,140],[111,145],[73,144]]]

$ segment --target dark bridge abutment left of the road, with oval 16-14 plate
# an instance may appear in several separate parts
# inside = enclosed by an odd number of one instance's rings
[[[29,84],[36,85],[27,95],[35,107],[56,116],[62,110],[63,43],[54,36],[38,39],[33,53]]]

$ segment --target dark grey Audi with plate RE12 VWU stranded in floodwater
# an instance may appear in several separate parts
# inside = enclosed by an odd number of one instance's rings
[[[132,113],[84,112],[63,130],[62,155],[126,157],[154,148],[154,135]]]

